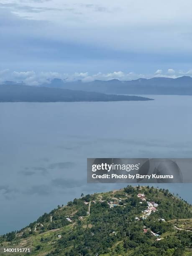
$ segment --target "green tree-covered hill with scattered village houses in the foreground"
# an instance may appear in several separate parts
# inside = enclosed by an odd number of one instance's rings
[[[0,255],[192,255],[191,210],[168,189],[148,186],[82,195],[1,236]]]

